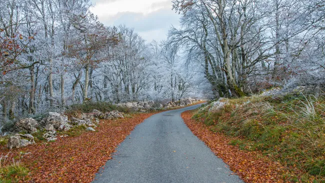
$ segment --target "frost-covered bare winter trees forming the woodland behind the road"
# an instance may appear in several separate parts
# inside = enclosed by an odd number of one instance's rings
[[[174,101],[323,86],[322,0],[172,2],[180,28],[147,43],[126,25],[104,26],[89,0],[3,1],[2,120],[89,100]]]

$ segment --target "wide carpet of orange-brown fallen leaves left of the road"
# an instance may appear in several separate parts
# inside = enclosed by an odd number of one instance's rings
[[[99,167],[110,159],[110,154],[133,128],[154,113],[133,114],[131,118],[101,120],[95,132],[58,138],[25,148],[11,150],[12,156],[20,152],[21,163],[30,173],[17,177],[20,182],[90,182]],[[1,147],[0,154],[9,150]]]

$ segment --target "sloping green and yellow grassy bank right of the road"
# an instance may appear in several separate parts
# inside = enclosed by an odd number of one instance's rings
[[[193,118],[212,131],[235,137],[230,142],[258,150],[292,167],[292,181],[325,182],[325,97],[322,95],[258,96],[229,99]]]

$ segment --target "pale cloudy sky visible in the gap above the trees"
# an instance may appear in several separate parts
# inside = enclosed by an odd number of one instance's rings
[[[178,27],[179,16],[171,0],[91,0],[91,11],[105,25],[125,24],[148,42],[166,38],[170,25]]]

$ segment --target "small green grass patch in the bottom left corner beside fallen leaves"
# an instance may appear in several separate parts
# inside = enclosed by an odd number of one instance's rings
[[[0,156],[0,183],[18,182],[19,179],[24,179],[28,175],[29,170],[20,163],[19,160],[12,158],[9,161],[9,153]],[[19,179],[18,179],[19,177]]]

